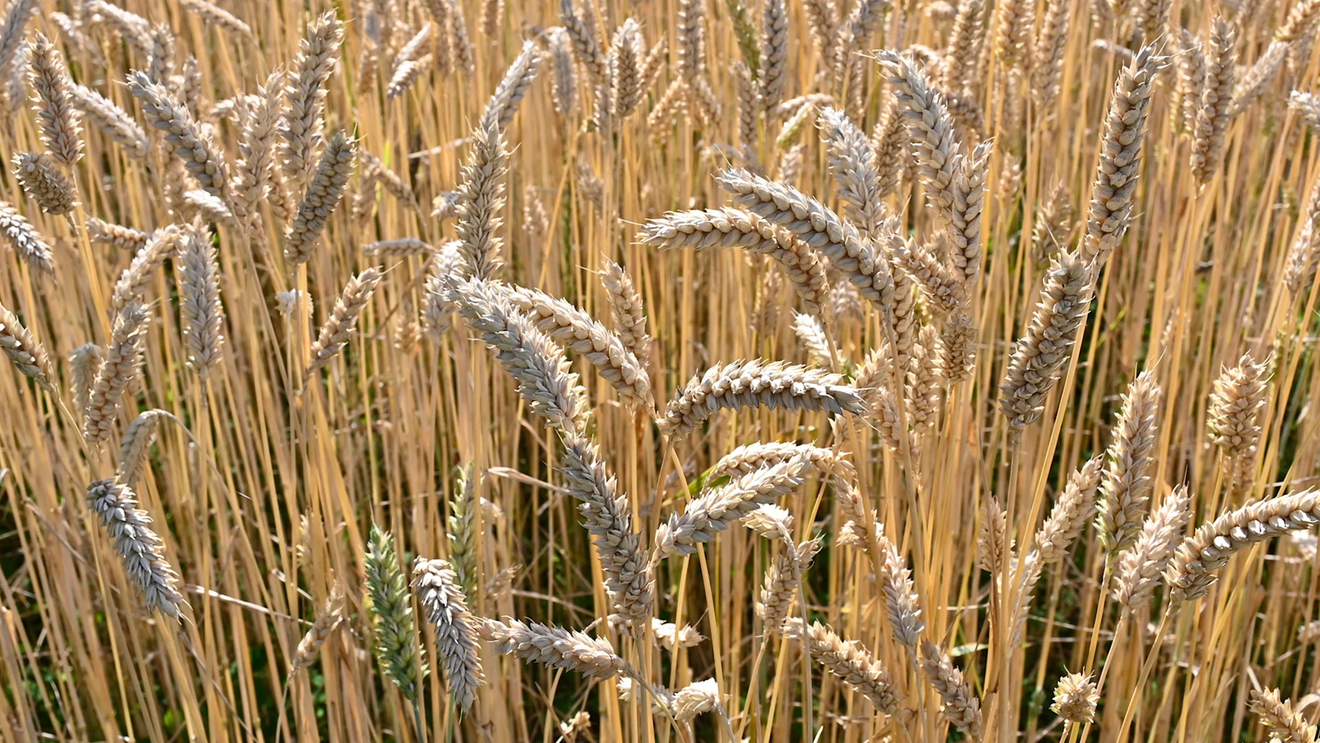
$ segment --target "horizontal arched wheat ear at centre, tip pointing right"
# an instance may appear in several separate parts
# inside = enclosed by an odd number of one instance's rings
[[[660,432],[682,439],[719,409],[762,406],[770,410],[828,411],[836,415],[866,411],[861,394],[838,374],[789,365],[784,361],[734,361],[698,374],[656,422]]]

